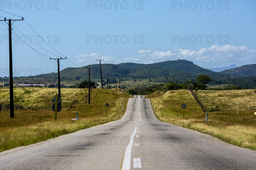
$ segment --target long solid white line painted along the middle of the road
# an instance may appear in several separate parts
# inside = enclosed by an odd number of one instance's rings
[[[131,148],[133,146],[134,136],[135,136],[136,131],[137,131],[137,127],[135,126],[134,132],[131,134],[130,142],[125,150],[125,157],[124,157],[124,161],[122,164],[122,170],[130,170],[131,169]]]

